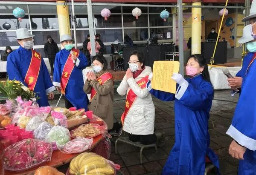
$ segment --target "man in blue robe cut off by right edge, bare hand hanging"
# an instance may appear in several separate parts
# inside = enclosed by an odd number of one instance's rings
[[[253,0],[250,15],[242,19],[256,22],[256,0]],[[252,23],[254,20],[254,23]],[[246,44],[249,52],[254,53],[245,69],[241,85],[241,95],[237,103],[232,123],[227,130],[234,140],[230,144],[229,153],[233,158],[239,159],[239,175],[256,174],[256,40]]]

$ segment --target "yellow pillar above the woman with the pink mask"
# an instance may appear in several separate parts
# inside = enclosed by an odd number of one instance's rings
[[[201,6],[201,2],[194,2],[192,6]],[[192,42],[191,42],[191,54],[201,54],[201,8],[192,8]]]

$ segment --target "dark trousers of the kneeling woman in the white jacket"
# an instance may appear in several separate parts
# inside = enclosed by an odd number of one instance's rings
[[[143,145],[149,145],[157,141],[157,136],[155,134],[151,135],[129,135],[129,140],[132,142],[140,141]]]

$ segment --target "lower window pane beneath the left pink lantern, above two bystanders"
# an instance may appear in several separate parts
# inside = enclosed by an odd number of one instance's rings
[[[115,40],[122,42],[122,29],[96,30],[96,34],[101,35],[103,42],[113,43]]]

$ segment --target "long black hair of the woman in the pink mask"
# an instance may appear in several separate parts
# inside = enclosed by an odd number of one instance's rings
[[[207,65],[207,60],[206,58],[204,57],[204,55],[201,55],[201,54],[195,54],[195,55],[191,55],[189,57],[190,58],[194,58],[194,60],[196,62],[198,62],[199,66],[204,68],[203,72],[202,72],[202,77],[204,78],[204,80],[208,81],[211,83],[211,80],[210,80],[210,75],[209,75],[209,71],[208,71],[208,65]],[[188,59],[188,60],[189,60]],[[212,84],[212,83],[211,83]]]

